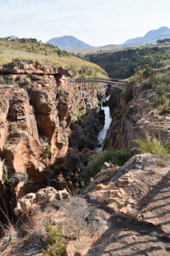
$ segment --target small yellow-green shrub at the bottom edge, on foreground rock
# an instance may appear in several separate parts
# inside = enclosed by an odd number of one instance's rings
[[[60,255],[66,248],[61,237],[61,228],[61,224],[58,229],[52,227],[52,219],[49,219],[49,221],[47,222],[47,225],[45,227],[45,230],[47,232],[47,249],[42,250],[45,256]]]

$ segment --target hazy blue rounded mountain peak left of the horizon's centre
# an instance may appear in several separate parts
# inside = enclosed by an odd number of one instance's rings
[[[61,50],[69,50],[74,48],[86,48],[92,49],[94,46],[84,43],[81,40],[78,40],[72,35],[64,35],[63,37],[54,37],[47,41],[47,44],[52,44],[53,46],[58,46]]]

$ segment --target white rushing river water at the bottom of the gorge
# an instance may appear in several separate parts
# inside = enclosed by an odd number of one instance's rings
[[[97,138],[98,138],[98,143],[101,144],[101,147],[95,147],[95,152],[101,152],[103,149],[103,144],[104,144],[104,138],[106,137],[107,129],[110,127],[110,123],[112,122],[112,117],[110,116],[110,108],[109,106],[103,107],[102,103],[104,101],[108,101],[110,98],[110,95],[108,97],[103,97],[101,99],[101,109],[104,110],[105,114],[105,122],[104,122],[104,127],[101,129],[101,131],[98,133]]]

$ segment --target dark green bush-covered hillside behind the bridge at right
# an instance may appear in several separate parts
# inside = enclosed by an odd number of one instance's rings
[[[126,79],[134,75],[138,66],[149,71],[150,68],[170,65],[170,44],[89,53],[85,59],[99,65],[110,77]]]

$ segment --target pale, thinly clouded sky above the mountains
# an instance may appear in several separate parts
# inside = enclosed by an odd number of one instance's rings
[[[91,46],[120,44],[170,28],[169,0],[0,0],[0,37],[43,43],[72,35]]]

